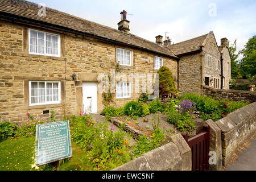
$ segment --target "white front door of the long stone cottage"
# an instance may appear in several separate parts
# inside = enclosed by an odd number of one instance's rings
[[[97,82],[82,82],[82,105],[87,113],[97,113]]]

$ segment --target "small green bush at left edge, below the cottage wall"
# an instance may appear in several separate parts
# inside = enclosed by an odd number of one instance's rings
[[[0,141],[14,136],[16,126],[13,123],[4,121],[0,123]]]

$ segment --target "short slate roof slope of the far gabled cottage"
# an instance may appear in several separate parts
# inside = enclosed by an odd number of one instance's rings
[[[201,35],[197,38],[185,40],[180,43],[172,44],[168,46],[175,55],[179,56],[184,53],[199,51],[201,46],[203,46],[204,40],[207,38],[208,34]]]

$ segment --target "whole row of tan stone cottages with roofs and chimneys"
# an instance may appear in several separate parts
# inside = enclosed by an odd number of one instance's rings
[[[115,70],[117,61],[126,76],[170,68],[180,94],[201,94],[203,84],[229,88],[227,39],[218,47],[212,31],[177,44],[159,35],[154,43],[130,34],[126,11],[118,30],[50,8],[45,16],[38,11],[37,4],[27,1],[0,3],[1,122],[22,121],[26,113],[49,117],[51,109],[59,119],[65,104],[71,114],[89,104],[100,113],[98,75]],[[115,88],[115,106],[141,94],[123,78],[115,80]]]

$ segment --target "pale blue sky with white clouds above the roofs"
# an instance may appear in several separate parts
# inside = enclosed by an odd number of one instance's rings
[[[157,35],[162,35],[163,39],[167,35],[172,43],[178,43],[213,31],[218,46],[221,38],[227,38],[230,43],[237,39],[239,51],[256,35],[255,0],[29,1],[112,28],[117,28],[120,12],[126,10],[130,33],[152,42]]]

